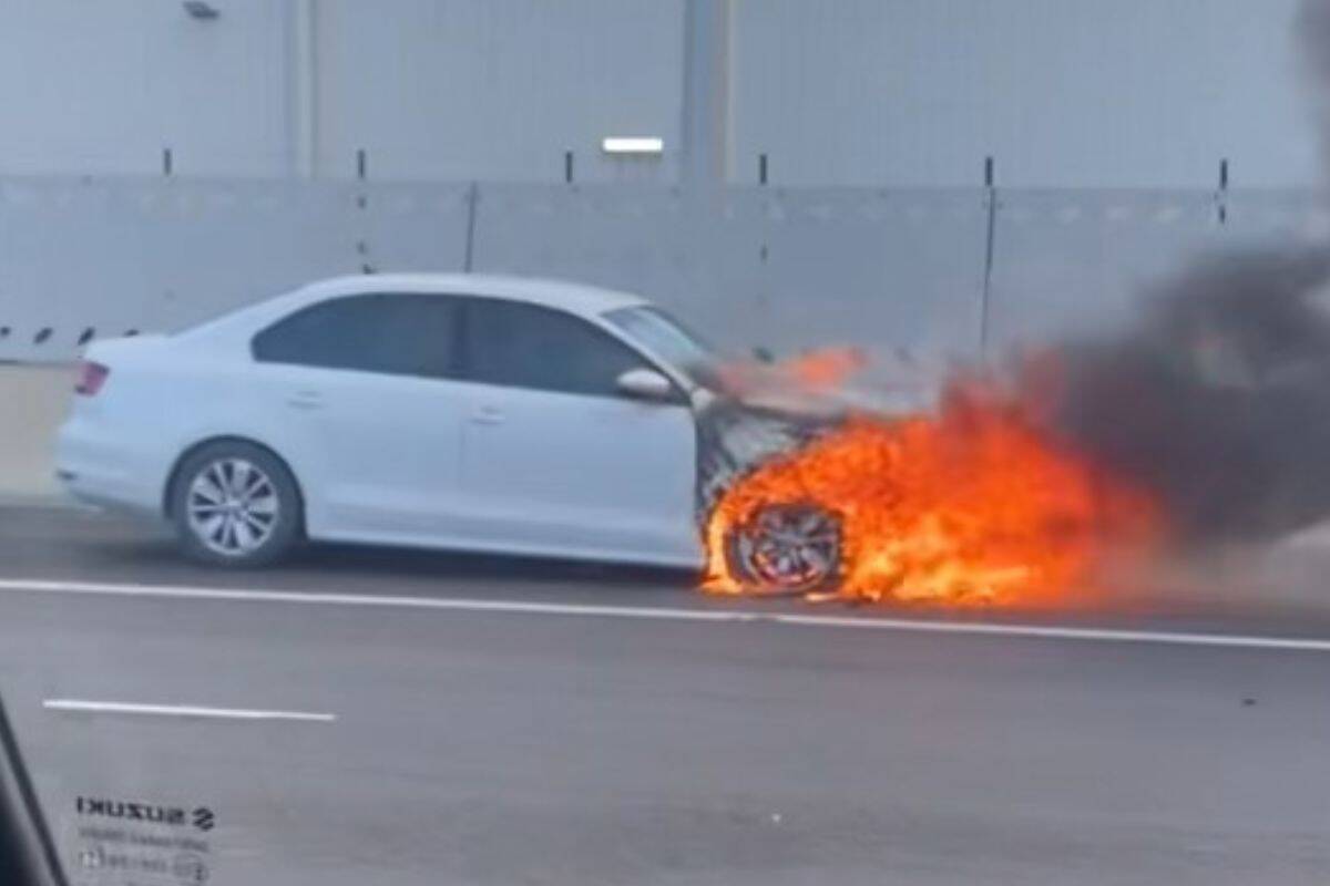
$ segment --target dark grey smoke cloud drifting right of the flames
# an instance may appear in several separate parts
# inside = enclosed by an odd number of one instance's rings
[[[1117,341],[1063,344],[1028,396],[1109,469],[1152,489],[1189,543],[1330,518],[1330,250],[1202,262]]]

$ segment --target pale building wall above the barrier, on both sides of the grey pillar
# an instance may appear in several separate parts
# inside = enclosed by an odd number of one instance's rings
[[[1318,181],[1298,0],[0,0],[0,174],[676,181],[688,3],[729,8],[729,175]],[[729,86],[725,90],[725,86]],[[660,161],[600,154],[653,134]]]

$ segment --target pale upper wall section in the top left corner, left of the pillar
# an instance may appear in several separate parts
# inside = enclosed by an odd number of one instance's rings
[[[0,171],[287,173],[286,4],[221,5],[0,0]]]

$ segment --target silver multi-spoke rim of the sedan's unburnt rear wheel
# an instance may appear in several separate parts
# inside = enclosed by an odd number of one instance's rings
[[[281,515],[277,486],[245,458],[218,458],[194,476],[185,499],[189,529],[207,550],[246,557],[263,547]]]

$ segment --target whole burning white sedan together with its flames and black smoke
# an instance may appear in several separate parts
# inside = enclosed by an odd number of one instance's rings
[[[221,566],[327,539],[705,565],[714,592],[1029,600],[1119,543],[1330,513],[1327,278],[1319,251],[1228,258],[1140,328],[982,375],[854,349],[724,363],[592,287],[343,278],[92,345],[59,473]]]

